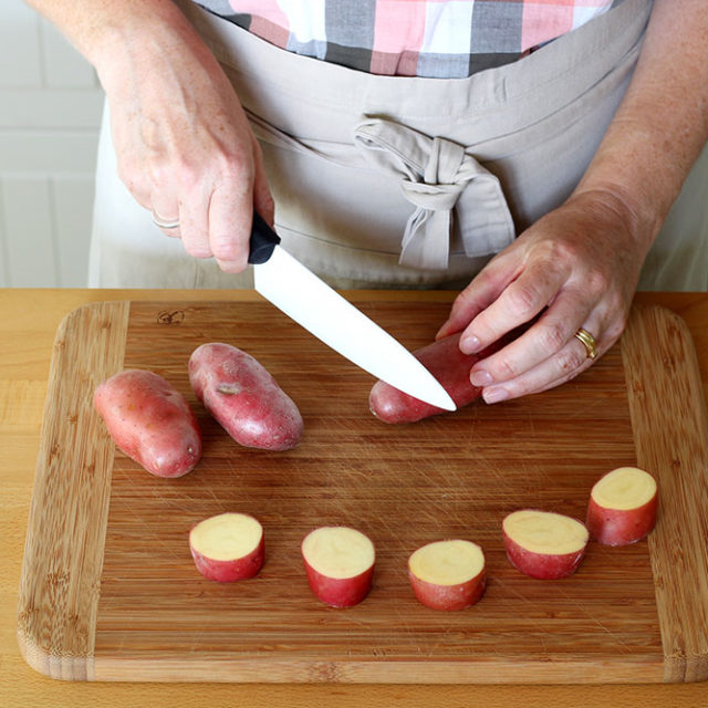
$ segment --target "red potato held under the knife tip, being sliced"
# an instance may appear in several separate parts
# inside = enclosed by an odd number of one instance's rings
[[[479,354],[462,354],[459,347],[460,335],[461,333],[451,334],[414,352],[415,357],[440,382],[458,408],[469,405],[481,395],[482,389],[473,386],[469,379],[472,366],[501,346],[500,343],[494,343]],[[372,387],[368,407],[384,423],[416,423],[448,413],[404,394],[383,381],[377,381]]]

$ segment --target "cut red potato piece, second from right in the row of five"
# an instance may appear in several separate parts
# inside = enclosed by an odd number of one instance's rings
[[[503,520],[502,533],[510,563],[540,580],[574,573],[589,540],[587,529],[576,519],[535,509],[510,513]]]

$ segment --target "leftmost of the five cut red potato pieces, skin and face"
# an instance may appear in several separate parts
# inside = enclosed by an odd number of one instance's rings
[[[260,522],[244,513],[220,513],[189,532],[197,570],[219,583],[253,577],[263,565],[266,540]]]

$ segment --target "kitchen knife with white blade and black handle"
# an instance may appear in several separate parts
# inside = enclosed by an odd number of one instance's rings
[[[409,396],[445,410],[457,408],[408,350],[288,253],[257,211],[248,261],[257,292],[327,346]]]

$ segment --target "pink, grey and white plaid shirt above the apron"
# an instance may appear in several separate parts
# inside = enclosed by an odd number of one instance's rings
[[[465,77],[511,63],[613,4],[613,0],[195,1],[298,54],[372,74],[437,79]]]

